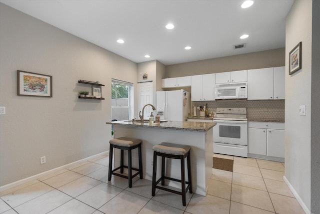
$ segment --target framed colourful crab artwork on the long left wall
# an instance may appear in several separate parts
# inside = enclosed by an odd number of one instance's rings
[[[52,97],[52,76],[18,70],[17,95]]]

